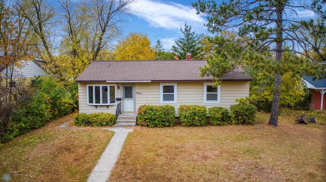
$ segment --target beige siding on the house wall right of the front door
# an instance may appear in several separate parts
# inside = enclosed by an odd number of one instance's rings
[[[142,92],[142,95],[136,95],[136,110],[140,105],[160,103],[159,83],[136,84],[136,91]],[[223,82],[221,85],[220,103],[204,103],[204,83],[201,82],[179,82],[177,83],[177,103],[170,103],[176,108],[182,104],[204,105],[207,108],[213,106],[222,106],[230,108],[237,104],[236,98],[249,96],[249,82]]]

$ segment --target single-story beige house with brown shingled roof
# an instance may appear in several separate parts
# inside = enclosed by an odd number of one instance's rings
[[[204,105],[207,108],[237,104],[249,96],[252,78],[237,68],[212,87],[212,77],[201,77],[205,60],[93,61],[76,78],[79,113],[115,114],[121,102],[122,114],[137,114],[143,104]]]

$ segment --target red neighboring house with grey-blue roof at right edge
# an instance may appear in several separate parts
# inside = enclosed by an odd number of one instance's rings
[[[303,81],[313,95],[309,108],[326,110],[326,79],[313,80],[313,77],[304,77]]]

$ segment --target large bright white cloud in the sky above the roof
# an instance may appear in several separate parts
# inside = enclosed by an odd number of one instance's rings
[[[196,14],[191,6],[173,2],[139,0],[133,6],[134,15],[144,19],[150,26],[165,29],[180,29],[184,22],[196,26],[205,23],[205,19]]]

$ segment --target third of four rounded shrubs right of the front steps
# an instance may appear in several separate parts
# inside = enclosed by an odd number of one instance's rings
[[[230,121],[229,111],[224,107],[208,108],[212,125],[227,125]]]

